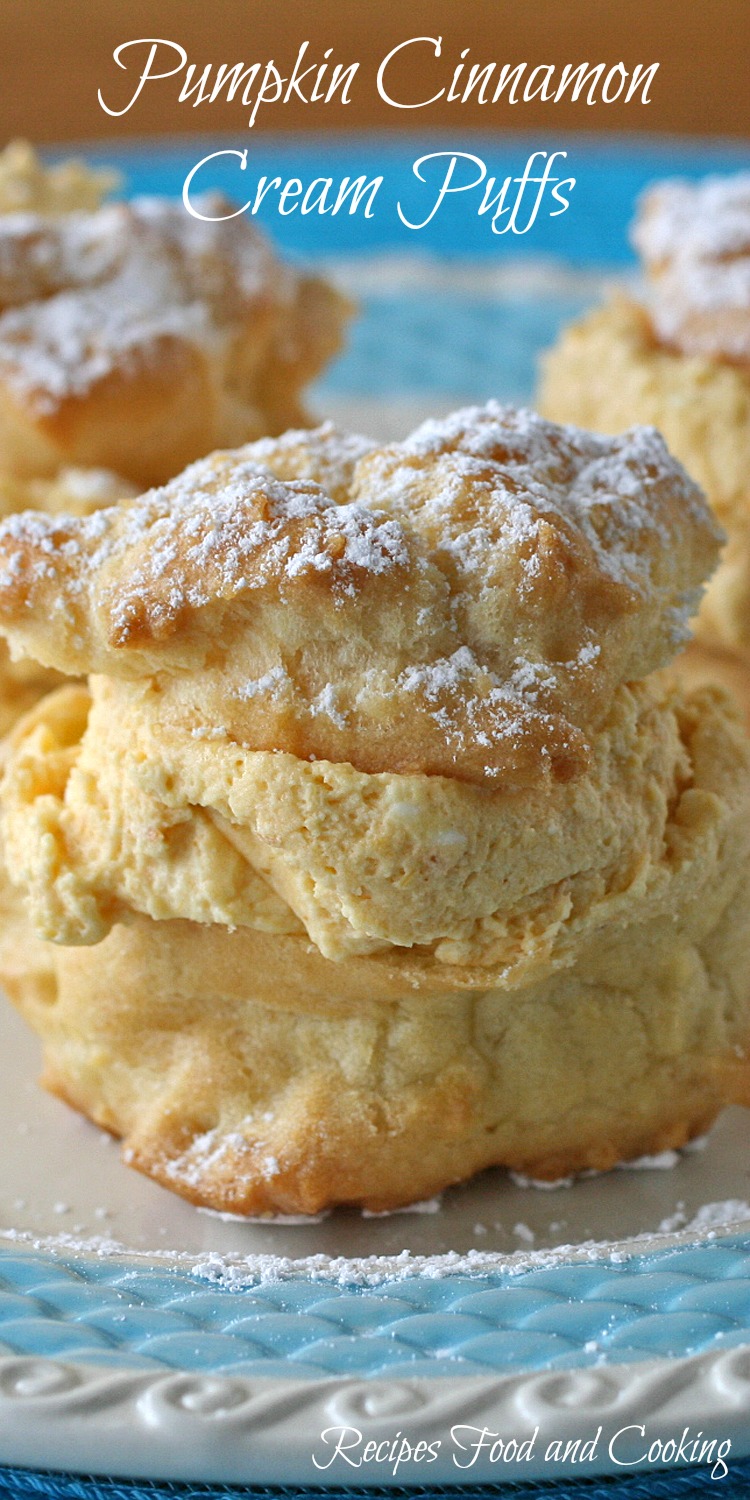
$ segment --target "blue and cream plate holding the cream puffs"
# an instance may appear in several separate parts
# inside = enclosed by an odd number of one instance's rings
[[[498,136],[466,150],[504,174],[538,144]],[[210,148],[88,154],[114,156],[128,190],[177,195]],[[384,172],[390,202],[435,148],[266,136],[252,147],[268,174]],[[458,402],[531,399],[538,351],[604,279],[628,273],[626,228],[645,182],[744,165],[720,144],[566,148],[576,212],[513,243],[454,206],[424,236],[392,213],[339,228],[266,219],[360,298],[350,350],[315,392],[321,416],[398,436]],[[387,1218],[243,1222],[138,1178],[108,1137],[40,1095],[36,1042],[8,1008],[0,1044],[0,1462],[477,1484],[669,1464],[680,1454],[663,1444],[686,1426],[682,1458],[696,1458],[699,1432],[730,1443],[734,1460],[750,1454],[741,1112],[700,1150],[556,1192],[486,1173],[442,1204]],[[470,1430],[484,1426],[495,1448],[470,1462]],[[348,1452],[336,1452],[340,1430]],[[358,1461],[370,1438],[380,1456]]]

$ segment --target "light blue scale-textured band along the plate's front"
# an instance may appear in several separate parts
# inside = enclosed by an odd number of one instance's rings
[[[248,1278],[250,1280],[250,1278]],[[498,1376],[750,1341],[750,1236],[358,1286],[6,1250],[0,1353],[202,1374]]]

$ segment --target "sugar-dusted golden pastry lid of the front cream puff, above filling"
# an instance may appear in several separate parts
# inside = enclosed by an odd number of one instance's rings
[[[148,686],[188,756],[518,789],[582,774],[618,686],[687,638],[718,543],[654,430],[490,402],[387,447],[327,424],[90,518],[9,518],[0,630]]]

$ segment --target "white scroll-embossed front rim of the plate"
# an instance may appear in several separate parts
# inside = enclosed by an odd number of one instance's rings
[[[246,1380],[0,1359],[2,1462],[213,1484],[476,1485],[626,1473],[654,1467],[651,1444],[678,1448],[686,1428],[687,1455],[702,1432],[714,1456],[724,1444],[730,1467],[750,1454],[748,1410],[750,1344],[500,1378]],[[346,1456],[336,1452],[342,1430]],[[474,1454],[483,1430],[492,1437]],[[507,1461],[496,1448],[492,1456],[496,1437],[525,1443],[528,1456]],[[381,1461],[357,1462],[370,1440]],[[579,1446],[566,1461],[576,1440],[591,1456],[582,1460]],[[435,1456],[404,1458],[393,1472],[387,1455],[402,1443],[432,1444]]]

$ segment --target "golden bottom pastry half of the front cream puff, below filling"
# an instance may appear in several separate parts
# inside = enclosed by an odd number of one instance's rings
[[[147,916],[56,950],[18,909],[0,964],[46,1088],[122,1136],[134,1167],[234,1214],[388,1209],[494,1164],[609,1168],[750,1104],[748,858],[738,870],[734,852],[706,861],[682,914],[620,918],[516,988]]]

